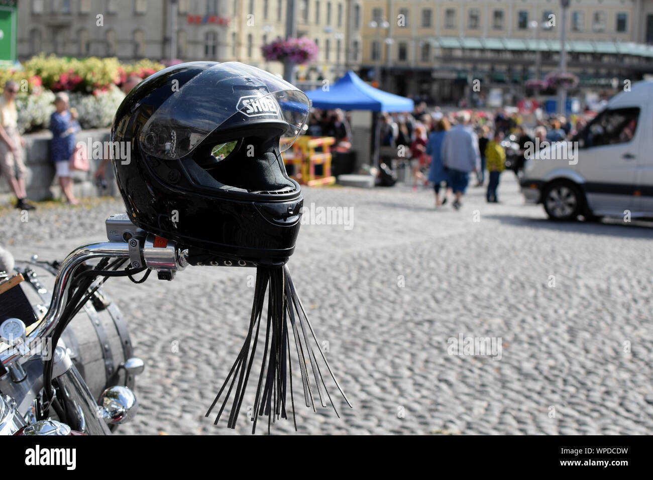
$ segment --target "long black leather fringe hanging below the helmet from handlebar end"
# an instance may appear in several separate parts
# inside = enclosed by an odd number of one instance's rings
[[[342,394],[345,402],[351,407],[349,400],[347,400],[340,385],[338,385],[338,381],[334,377],[324,353],[319,348],[313,327],[311,327],[304,306],[302,306],[302,302],[297,296],[295,285],[293,285],[293,280],[291,279],[287,266],[276,268],[259,266],[257,268],[254,302],[249,319],[247,337],[240,349],[240,353],[238,353],[236,362],[234,362],[229,371],[227,379],[225,379],[220,391],[215,396],[215,400],[206,412],[206,417],[214,409],[225,388],[229,385],[229,389],[225,394],[225,398],[214,422],[217,424],[225,406],[227,406],[235,385],[236,389],[234,391],[231,411],[229,411],[227,426],[229,428],[236,428],[236,418],[242,406],[254,354],[259,343],[259,330],[261,329],[266,290],[268,292],[268,315],[264,325],[263,362],[261,364],[261,373],[259,374],[256,398],[251,415],[251,420],[253,421],[252,433],[256,431],[259,416],[266,415],[268,417],[268,433],[270,432],[270,424],[275,419],[278,420],[279,417],[283,419],[288,418],[287,386],[290,390],[290,408],[293,413],[293,423],[295,424],[295,430],[297,429],[295,399],[293,396],[293,370],[291,362],[291,357],[293,356],[293,347],[291,344],[293,342],[291,342],[291,338],[295,340],[295,351],[302,374],[302,387],[304,389],[304,402],[306,406],[313,408],[313,411],[315,411],[312,388],[314,386],[316,387],[320,404],[326,407],[326,398],[328,397],[331,406],[336,412],[336,415],[338,415],[338,410],[333,404],[318,364],[318,358],[321,358],[328,374],[336,383],[340,394]],[[311,338],[313,339],[312,342]],[[315,355],[313,344],[316,345],[320,353],[319,357]],[[312,381],[310,378],[311,372],[313,373]],[[287,379],[289,380],[288,383]]]

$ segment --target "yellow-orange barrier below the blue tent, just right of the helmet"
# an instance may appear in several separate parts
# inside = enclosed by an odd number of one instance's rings
[[[295,167],[295,180],[302,185],[314,187],[316,185],[332,185],[336,177],[331,176],[331,149],[336,143],[332,136],[311,137],[298,136],[293,144],[293,153],[283,155],[285,165],[293,164]],[[315,152],[322,148],[322,152]],[[322,174],[315,175],[315,165],[322,165]]]

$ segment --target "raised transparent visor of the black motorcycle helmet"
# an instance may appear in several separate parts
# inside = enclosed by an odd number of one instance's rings
[[[306,94],[278,76],[238,62],[218,63],[183,84],[170,85],[172,95],[140,131],[145,153],[178,159],[191,153],[228,120],[236,125],[275,123],[281,130],[281,152],[302,131],[310,112]],[[230,124],[232,122],[229,122]]]

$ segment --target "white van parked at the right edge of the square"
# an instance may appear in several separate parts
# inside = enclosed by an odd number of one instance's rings
[[[653,80],[615,95],[571,142],[528,158],[522,193],[550,219],[653,217]]]

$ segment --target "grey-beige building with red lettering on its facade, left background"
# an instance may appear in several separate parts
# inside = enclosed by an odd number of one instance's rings
[[[362,7],[355,0],[295,0],[297,34],[319,46],[319,58],[298,68],[301,79],[335,79],[360,60]],[[18,57],[117,56],[130,61],[176,57],[184,61],[238,60],[282,72],[261,46],[285,36],[287,0],[22,0]],[[358,27],[355,26],[357,20]]]

